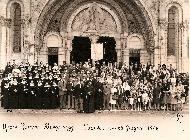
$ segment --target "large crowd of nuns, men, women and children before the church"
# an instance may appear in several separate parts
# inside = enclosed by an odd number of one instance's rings
[[[142,65],[8,63],[1,82],[5,109],[178,110],[185,103],[189,75],[163,64]]]

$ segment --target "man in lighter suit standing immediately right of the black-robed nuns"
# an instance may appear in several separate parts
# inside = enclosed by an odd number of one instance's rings
[[[61,78],[61,80],[58,83],[59,87],[59,100],[60,100],[60,110],[63,108],[66,108],[66,81]]]

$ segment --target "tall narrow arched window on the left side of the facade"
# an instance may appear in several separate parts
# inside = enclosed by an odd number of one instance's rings
[[[11,19],[12,19],[12,45],[13,52],[21,52],[21,6],[19,3],[11,5]]]

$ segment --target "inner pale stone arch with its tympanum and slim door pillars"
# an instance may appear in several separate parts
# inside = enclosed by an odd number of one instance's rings
[[[117,38],[117,49],[122,49],[120,45],[121,21],[116,13],[103,4],[93,2],[79,7],[70,16],[66,32],[64,32],[64,28],[65,26],[61,24],[61,34],[68,35],[66,38],[67,62],[70,62],[70,52],[73,50],[71,44],[74,36],[88,37],[91,44],[96,44],[101,36]],[[118,60],[119,57],[120,55],[118,55]]]

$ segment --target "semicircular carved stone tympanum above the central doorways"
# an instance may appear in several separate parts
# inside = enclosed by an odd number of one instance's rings
[[[84,5],[76,13],[72,14],[71,19],[68,21],[70,31],[80,32],[121,32],[121,25],[117,16],[108,8],[96,2]]]

